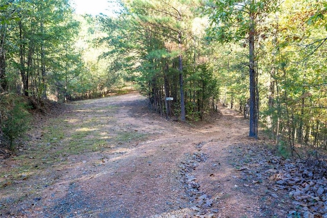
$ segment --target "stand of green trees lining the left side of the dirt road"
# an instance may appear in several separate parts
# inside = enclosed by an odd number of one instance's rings
[[[67,101],[118,83],[99,60],[107,49],[94,46],[105,35],[97,18],[75,15],[67,0],[10,1],[0,16],[0,91]]]

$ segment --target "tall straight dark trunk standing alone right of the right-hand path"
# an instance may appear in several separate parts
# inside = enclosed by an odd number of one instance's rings
[[[257,112],[257,96],[256,93],[258,84],[256,83],[256,72],[255,72],[255,56],[254,56],[254,15],[250,14],[251,26],[249,29],[249,77],[250,77],[250,131],[249,137],[258,139],[258,112]]]

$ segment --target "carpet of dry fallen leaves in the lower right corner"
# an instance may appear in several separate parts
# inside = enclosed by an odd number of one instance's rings
[[[324,158],[284,159],[264,145],[236,145],[235,170],[240,171],[245,187],[267,185],[274,199],[287,194],[294,210],[287,217],[327,217],[327,162]]]

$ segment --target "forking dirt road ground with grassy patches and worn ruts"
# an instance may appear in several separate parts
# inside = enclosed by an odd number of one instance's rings
[[[39,117],[18,154],[0,158],[0,217],[305,216],[310,205],[303,212],[282,178],[297,162],[219,112],[166,120],[129,93]]]

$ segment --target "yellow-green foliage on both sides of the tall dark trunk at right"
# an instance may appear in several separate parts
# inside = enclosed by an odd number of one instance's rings
[[[285,156],[296,154],[297,144],[326,147],[325,55],[326,3],[287,0],[210,1],[206,11],[211,21],[207,30],[219,52],[214,65],[221,83],[224,104],[244,105],[251,63],[245,62],[245,49],[251,17],[255,18],[255,71],[260,94],[260,120],[269,135],[283,141]],[[267,7],[267,10],[262,10]],[[278,13],[276,13],[278,11]],[[226,43],[229,42],[229,43]],[[247,56],[248,57],[248,56]]]

